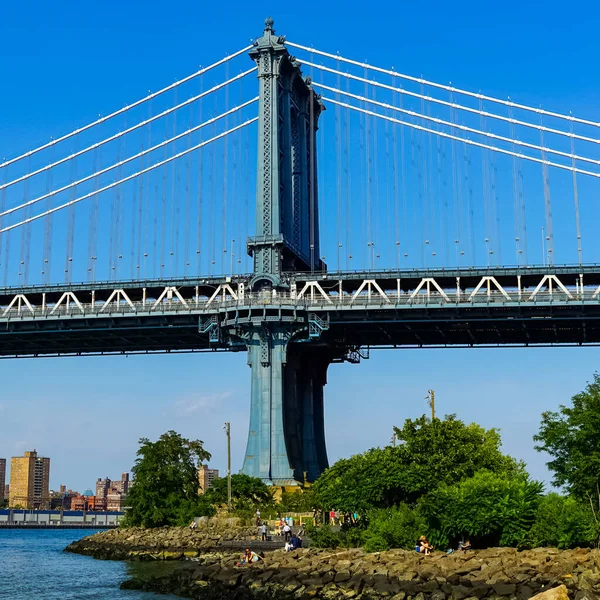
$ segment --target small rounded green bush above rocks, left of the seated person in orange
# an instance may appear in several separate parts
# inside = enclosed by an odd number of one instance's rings
[[[390,548],[414,548],[421,535],[427,532],[427,522],[420,511],[406,504],[371,511],[368,527],[362,535],[367,552]]]

